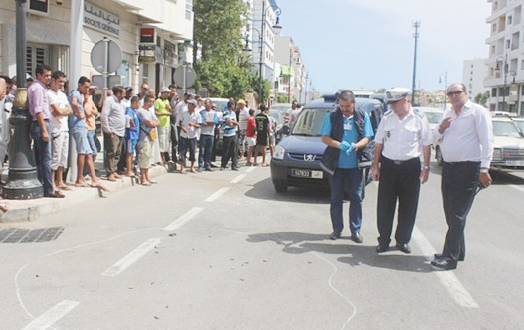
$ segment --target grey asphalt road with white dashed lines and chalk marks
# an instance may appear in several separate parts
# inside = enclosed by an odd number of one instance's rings
[[[0,243],[0,329],[522,329],[524,176],[477,195],[466,260],[442,272],[429,265],[446,230],[433,167],[411,254],[375,253],[375,183],[364,243],[347,220],[331,241],[328,193],[277,194],[268,167],[167,174],[18,224],[64,230]]]

